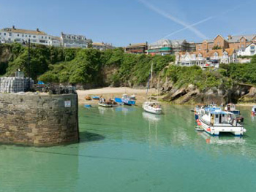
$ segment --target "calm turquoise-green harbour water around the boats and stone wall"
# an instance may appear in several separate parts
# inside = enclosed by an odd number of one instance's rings
[[[0,145],[0,191],[256,191],[256,118],[244,137],[195,131],[192,107],[80,107],[78,144]]]

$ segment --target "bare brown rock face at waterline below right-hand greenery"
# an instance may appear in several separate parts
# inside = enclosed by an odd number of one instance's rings
[[[212,103],[256,103],[256,88],[250,85],[233,85],[230,89],[209,88],[200,91],[195,85],[186,88],[176,88],[165,83],[162,86],[163,100],[173,104]]]

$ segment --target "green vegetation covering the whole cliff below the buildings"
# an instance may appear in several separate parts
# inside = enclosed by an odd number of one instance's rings
[[[192,84],[203,91],[230,88],[237,82],[256,85],[256,56],[251,64],[222,64],[214,71],[170,65],[173,55],[133,55],[122,48],[99,51],[32,45],[30,57],[31,77],[45,82],[146,85],[153,62],[154,77],[161,77],[163,82],[167,78],[178,88]],[[28,61],[28,47],[0,45],[0,75],[12,75],[18,69],[28,75]]]

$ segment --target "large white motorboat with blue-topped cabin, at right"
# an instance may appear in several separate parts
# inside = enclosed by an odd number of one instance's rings
[[[206,107],[199,110],[197,125],[206,133],[217,136],[221,132],[242,136],[246,132],[232,112],[222,111],[220,107]]]

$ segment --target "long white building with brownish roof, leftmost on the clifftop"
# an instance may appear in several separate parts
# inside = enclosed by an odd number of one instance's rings
[[[2,43],[8,42],[28,42],[40,45],[50,45],[51,37],[43,31],[19,29],[12,26],[12,28],[3,28],[0,30],[0,41]]]

